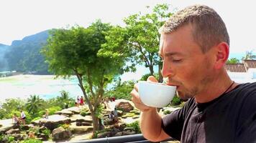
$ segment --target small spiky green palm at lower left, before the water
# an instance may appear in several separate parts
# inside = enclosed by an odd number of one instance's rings
[[[34,117],[36,114],[42,109],[44,105],[43,99],[40,99],[38,95],[30,95],[29,99],[27,99],[26,109],[29,114],[32,114]]]

